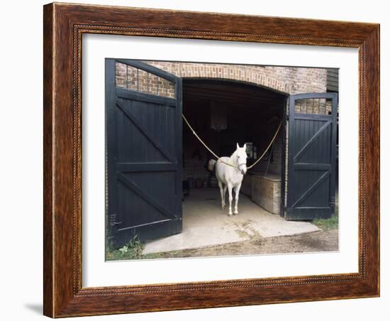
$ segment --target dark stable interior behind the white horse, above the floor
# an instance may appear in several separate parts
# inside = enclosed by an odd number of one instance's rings
[[[184,79],[183,113],[196,133],[218,156],[230,156],[236,143],[247,143],[247,165],[267,148],[284,116],[286,96],[272,89],[230,80]],[[283,128],[265,157],[248,170],[240,194],[273,214],[281,214],[285,143]],[[184,202],[196,197],[202,208],[220,204],[215,175],[207,170],[211,153],[183,123]],[[215,189],[215,191],[213,191]],[[202,197],[202,193],[204,197]],[[191,196],[194,195],[194,196]],[[241,196],[240,196],[241,197]],[[226,195],[228,200],[228,195]],[[240,202],[239,202],[240,212]],[[183,207],[183,222],[199,212]],[[221,208],[219,211],[221,212]],[[227,214],[227,210],[225,211]]]

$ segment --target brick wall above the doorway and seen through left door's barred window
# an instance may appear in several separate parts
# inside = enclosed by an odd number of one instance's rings
[[[178,77],[201,77],[238,80],[276,89],[288,94],[326,92],[326,70],[321,68],[262,67],[254,65],[223,65],[213,63],[145,61]],[[139,80],[137,82],[136,80]],[[143,92],[172,97],[172,82],[117,63],[117,85]],[[158,89],[157,89],[158,87]],[[168,92],[167,92],[168,90]]]

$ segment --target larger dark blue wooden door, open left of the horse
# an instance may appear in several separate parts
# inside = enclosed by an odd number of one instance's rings
[[[113,244],[182,232],[182,80],[106,59],[107,211]]]

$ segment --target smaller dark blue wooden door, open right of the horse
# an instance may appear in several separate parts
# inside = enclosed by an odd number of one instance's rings
[[[289,97],[286,219],[328,218],[335,209],[338,96]]]

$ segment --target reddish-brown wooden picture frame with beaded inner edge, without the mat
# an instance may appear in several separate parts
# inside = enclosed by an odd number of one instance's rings
[[[82,288],[82,34],[359,49],[359,272]],[[113,6],[44,6],[44,314],[211,308],[379,295],[379,25]]]

